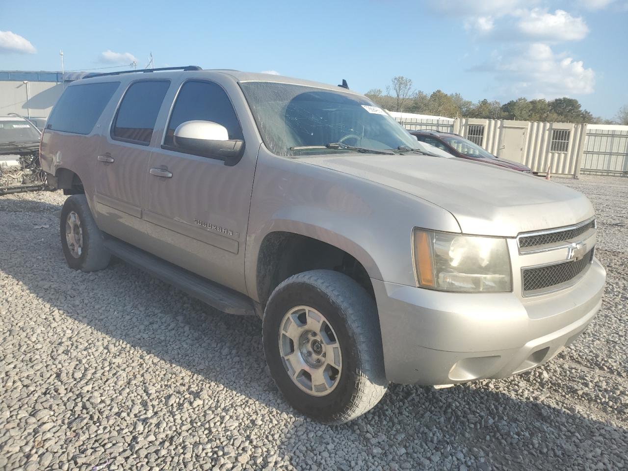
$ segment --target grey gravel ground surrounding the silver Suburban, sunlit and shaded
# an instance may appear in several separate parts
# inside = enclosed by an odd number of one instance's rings
[[[604,305],[532,372],[390,387],[342,426],[295,414],[261,324],[117,262],[68,268],[60,193],[0,198],[0,470],[628,468],[628,179],[555,178],[598,213]]]

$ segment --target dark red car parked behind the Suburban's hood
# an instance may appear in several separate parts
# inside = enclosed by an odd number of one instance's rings
[[[512,160],[501,159],[482,149],[479,145],[472,143],[468,139],[453,133],[441,133],[438,131],[408,131],[416,136],[419,141],[431,146],[435,146],[443,151],[460,157],[461,159],[475,160],[476,162],[489,163],[498,167],[509,168],[511,170],[532,173],[529,167]]]

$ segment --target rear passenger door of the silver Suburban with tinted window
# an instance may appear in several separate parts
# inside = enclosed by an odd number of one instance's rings
[[[170,80],[136,80],[127,87],[95,160],[100,229],[142,246],[142,199],[154,125]]]

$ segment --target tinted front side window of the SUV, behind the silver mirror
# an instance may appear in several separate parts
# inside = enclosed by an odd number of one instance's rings
[[[183,84],[172,109],[164,144],[172,146],[175,129],[195,119],[222,124],[229,132],[229,139],[244,139],[236,111],[220,85],[196,81]]]

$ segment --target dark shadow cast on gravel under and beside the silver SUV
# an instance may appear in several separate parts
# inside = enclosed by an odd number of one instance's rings
[[[10,205],[8,209],[0,201],[4,211],[58,209],[28,201]],[[57,230],[51,227],[45,243],[0,252],[0,270],[52,309],[111,337],[114,348],[121,340],[208,382],[293,414],[265,372],[259,320],[213,311],[124,263],[92,274],[72,271],[63,259]],[[34,255],[41,260],[34,263]],[[173,392],[181,389],[176,379],[176,372],[166,374]],[[525,376],[520,381],[526,381]],[[571,470],[583,468],[585,462],[592,469],[598,463],[603,469],[628,466],[627,430],[526,394],[511,398],[492,391],[494,383],[440,391],[391,385],[375,409],[347,425],[326,426],[303,417],[294,425],[286,421],[290,436],[279,447],[314,469],[327,466],[320,450],[328,451],[340,470],[371,465],[396,469],[395,463],[401,469],[440,469],[452,460],[458,470],[471,458],[482,470]],[[538,387],[536,394],[543,392]],[[364,461],[364,456],[369,459]]]

